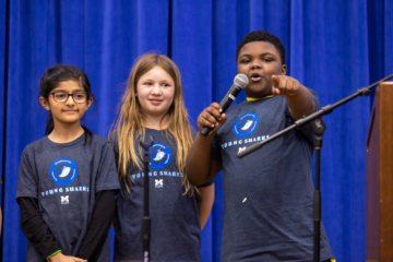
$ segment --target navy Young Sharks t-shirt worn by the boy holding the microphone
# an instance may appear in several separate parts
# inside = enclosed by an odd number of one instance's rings
[[[317,109],[320,103],[311,91]],[[283,96],[227,110],[213,158],[223,163],[222,261],[311,261],[312,129],[305,127],[239,159],[236,153],[294,123]],[[321,260],[333,258],[323,225]]]

